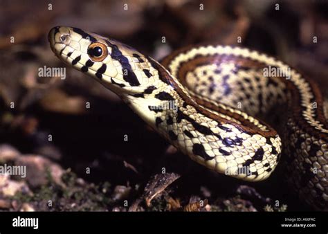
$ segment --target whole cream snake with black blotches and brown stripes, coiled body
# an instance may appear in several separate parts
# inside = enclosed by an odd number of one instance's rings
[[[328,210],[324,100],[289,64],[219,44],[187,46],[158,62],[115,39],[66,26],[52,28],[48,41],[62,62],[116,93],[193,161],[255,182],[275,171],[284,151],[286,182],[305,204]]]

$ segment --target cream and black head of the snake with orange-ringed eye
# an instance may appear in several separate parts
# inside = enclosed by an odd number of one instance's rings
[[[147,57],[114,39],[56,26],[50,30],[48,41],[60,60],[91,75],[118,95],[141,93],[156,76]]]

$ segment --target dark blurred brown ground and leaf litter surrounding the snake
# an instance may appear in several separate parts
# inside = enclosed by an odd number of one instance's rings
[[[47,35],[53,26],[74,26],[157,60],[197,43],[257,49],[302,71],[327,96],[327,1],[1,0],[0,6],[0,163],[28,168],[24,179],[0,175],[0,210],[126,211],[131,204],[181,210],[204,199],[201,210],[309,209],[285,185],[283,168],[261,183],[208,172],[95,80],[70,68],[65,80],[40,78],[38,69],[65,67]],[[163,168],[172,178],[154,188],[158,197],[147,206],[144,188]]]

